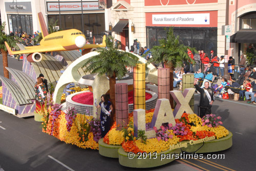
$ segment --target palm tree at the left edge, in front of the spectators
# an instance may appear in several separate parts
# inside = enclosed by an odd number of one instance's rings
[[[9,79],[9,72],[5,67],[8,67],[7,59],[7,48],[5,46],[5,41],[10,45],[10,47],[16,47],[16,42],[18,40],[17,36],[10,36],[5,34],[5,22],[0,26],[0,50],[3,55],[3,67],[4,67],[4,76]]]

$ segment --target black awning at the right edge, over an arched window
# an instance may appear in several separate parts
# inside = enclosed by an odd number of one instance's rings
[[[230,36],[230,43],[256,43],[256,31],[239,31]]]

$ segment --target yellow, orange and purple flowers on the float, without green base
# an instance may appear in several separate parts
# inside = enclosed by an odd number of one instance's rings
[[[66,113],[60,110],[61,105],[55,104],[40,112],[42,118],[42,131],[53,135],[61,141],[71,143],[86,149],[98,149],[100,139],[100,121],[93,116],[76,114],[74,109],[68,109]],[[146,127],[151,124],[154,109],[146,111]],[[204,118],[196,114],[183,113],[180,119],[175,119],[176,125],[162,125],[160,129],[154,127],[156,138],[142,140],[141,136],[134,136],[133,113],[129,114],[130,124],[121,131],[116,130],[114,124],[103,142],[109,145],[122,145],[125,152],[163,152],[171,145],[185,140],[199,140],[205,137],[216,139],[229,134],[220,121],[221,117],[214,114]],[[143,133],[142,133],[143,135]]]

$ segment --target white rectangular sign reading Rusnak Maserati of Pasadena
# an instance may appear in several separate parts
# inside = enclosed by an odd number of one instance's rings
[[[209,25],[210,14],[153,14],[153,25]]]

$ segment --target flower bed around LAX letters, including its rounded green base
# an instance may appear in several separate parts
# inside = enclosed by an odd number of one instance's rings
[[[145,127],[150,128],[154,109],[145,112]],[[230,148],[232,134],[225,129],[220,121],[221,117],[214,114],[204,118],[196,114],[183,113],[176,124],[163,124],[160,129],[154,127],[156,137],[147,138],[145,131],[138,130],[134,136],[133,113],[129,113],[130,124],[122,130],[116,129],[114,124],[108,134],[101,138],[100,120],[86,114],[77,114],[71,108],[61,111],[61,105],[46,103],[42,115],[42,132],[55,136],[61,141],[74,144],[82,149],[95,149],[106,157],[119,158],[119,163],[129,167],[154,167],[166,164],[175,159],[159,160],[162,154],[174,154],[182,151],[198,153],[217,152]],[[101,138],[101,139],[100,139]],[[208,143],[209,142],[209,143]],[[214,142],[214,143],[212,143]],[[224,142],[224,143],[223,143]],[[130,160],[127,154],[135,154]],[[148,156],[143,162],[139,161],[139,153],[157,154],[158,159],[151,164]]]

